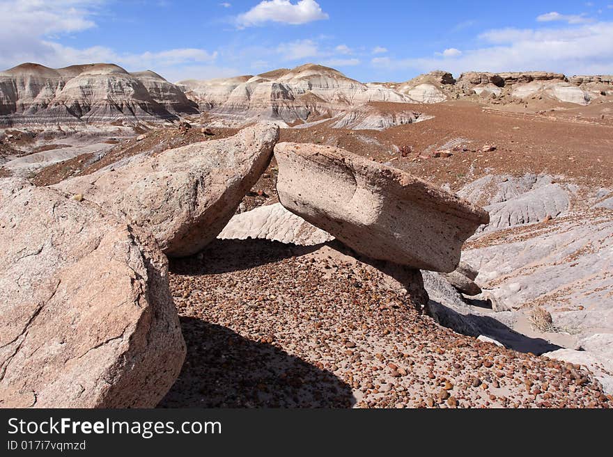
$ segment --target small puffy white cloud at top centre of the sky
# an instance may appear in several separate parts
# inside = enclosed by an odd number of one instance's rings
[[[264,0],[247,13],[238,15],[236,24],[240,28],[258,26],[266,22],[297,25],[328,17],[315,0],[299,0],[296,4],[290,0]]]

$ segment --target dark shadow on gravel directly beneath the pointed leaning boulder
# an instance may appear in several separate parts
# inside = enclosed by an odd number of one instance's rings
[[[169,268],[180,275],[231,273],[307,255],[321,246],[296,246],[267,239],[216,239],[192,257],[169,259]]]

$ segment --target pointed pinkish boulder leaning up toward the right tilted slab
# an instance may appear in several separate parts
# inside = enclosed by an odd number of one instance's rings
[[[56,184],[153,233],[166,255],[199,252],[215,239],[258,181],[279,138],[274,125],[203,141]]]

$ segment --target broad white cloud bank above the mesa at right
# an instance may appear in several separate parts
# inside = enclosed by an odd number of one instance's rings
[[[566,74],[613,73],[613,22],[564,29],[499,29],[479,36],[483,47],[465,50],[456,58],[373,58],[374,67],[387,70],[475,71],[546,70]]]

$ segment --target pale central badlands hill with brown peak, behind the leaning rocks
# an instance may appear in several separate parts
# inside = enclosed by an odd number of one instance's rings
[[[415,102],[382,84],[361,83],[338,70],[311,63],[256,76],[189,80],[178,85],[202,111],[210,111],[220,122],[235,125],[254,120],[282,122],[284,127],[332,118],[343,121],[348,111],[363,107],[364,112],[353,113],[339,127],[355,127],[366,120],[366,128],[377,128],[378,119],[372,118],[377,113],[368,111],[367,104]],[[411,115],[405,122],[412,122]]]

